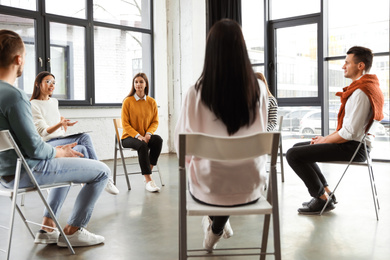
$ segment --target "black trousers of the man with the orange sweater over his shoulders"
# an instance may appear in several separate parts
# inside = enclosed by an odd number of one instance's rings
[[[357,141],[342,144],[302,142],[295,144],[287,151],[286,159],[291,168],[305,183],[310,195],[318,198],[324,194],[324,187],[328,186],[328,183],[316,162],[349,161],[358,146],[359,142]],[[365,160],[364,145],[361,145],[354,161],[363,162]]]

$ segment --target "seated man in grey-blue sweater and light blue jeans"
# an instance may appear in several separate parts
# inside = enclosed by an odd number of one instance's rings
[[[77,196],[64,233],[75,247],[103,243],[104,237],[90,233],[84,227],[106,187],[110,169],[102,162],[80,159],[83,155],[72,149],[76,143],[52,147],[42,141],[35,129],[26,93],[13,86],[16,78],[23,73],[25,55],[25,46],[18,34],[0,30],[0,131],[11,132],[39,184],[67,181],[85,183]],[[7,188],[14,185],[15,164],[16,154],[13,151],[0,153],[0,183]],[[32,186],[32,183],[23,169],[19,187],[28,186]],[[60,214],[69,188],[50,191],[48,202],[56,216]],[[42,224],[45,226],[37,233],[35,243],[66,246],[59,231],[53,229],[55,223],[46,209]]]

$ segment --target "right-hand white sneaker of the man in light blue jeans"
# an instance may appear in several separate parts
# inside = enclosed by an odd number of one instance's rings
[[[73,235],[67,236],[67,238],[73,247],[93,246],[104,242],[104,237],[95,235],[89,232],[88,230],[86,230],[85,228],[81,228],[77,230]],[[59,237],[57,246],[67,247],[65,238],[63,236]]]

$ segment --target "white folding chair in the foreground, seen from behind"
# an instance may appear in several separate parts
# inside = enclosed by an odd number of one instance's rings
[[[279,227],[279,206],[276,161],[278,145],[280,140],[279,132],[258,133],[245,137],[215,137],[205,134],[180,134],[179,136],[179,259],[187,257],[208,257],[221,256],[216,252],[220,250],[251,251],[252,253],[223,254],[229,256],[260,255],[265,259],[266,255],[273,254],[275,259],[281,259],[280,250],[280,227]],[[196,156],[208,160],[232,161],[259,157],[271,154],[271,170],[267,199],[261,197],[256,203],[240,207],[217,207],[200,204],[192,198],[187,191],[185,157]],[[261,247],[215,249],[213,254],[195,254],[204,249],[187,248],[187,215],[188,216],[227,216],[227,215],[265,215],[263,223],[263,235]],[[270,218],[272,215],[274,252],[267,253],[268,232]],[[233,238],[234,239],[234,238]],[[255,251],[255,252],[254,252]]]

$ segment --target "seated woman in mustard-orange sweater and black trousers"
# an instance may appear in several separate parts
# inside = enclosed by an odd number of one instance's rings
[[[145,177],[145,188],[158,192],[151,174],[161,153],[163,140],[154,132],[158,127],[157,103],[148,96],[149,81],[145,73],[138,73],[133,78],[130,94],[122,104],[122,145],[138,152],[138,162]]]

